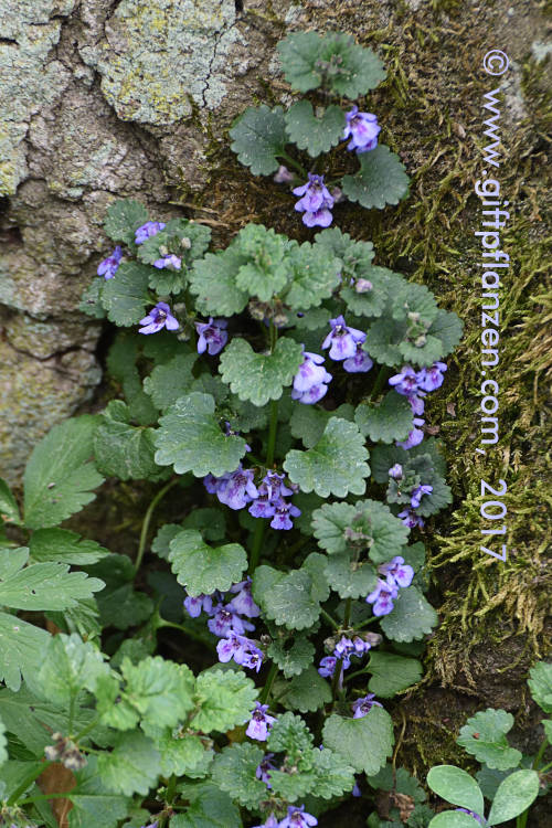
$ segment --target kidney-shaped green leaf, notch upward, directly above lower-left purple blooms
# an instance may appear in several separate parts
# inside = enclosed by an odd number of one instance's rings
[[[213,549],[195,529],[183,529],[172,539],[169,561],[177,581],[192,596],[210,595],[215,590],[226,592],[247,566],[247,555],[240,543]]]

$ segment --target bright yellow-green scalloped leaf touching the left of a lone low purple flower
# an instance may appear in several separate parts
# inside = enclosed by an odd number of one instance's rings
[[[195,680],[195,704],[200,708],[190,726],[224,733],[251,719],[257,689],[241,671],[208,670]]]

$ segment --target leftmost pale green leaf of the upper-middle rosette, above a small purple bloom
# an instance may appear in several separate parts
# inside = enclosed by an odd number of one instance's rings
[[[240,314],[250,299],[236,285],[240,267],[246,258],[234,246],[219,253],[206,253],[193,263],[190,288],[198,296],[197,308],[205,316]]]

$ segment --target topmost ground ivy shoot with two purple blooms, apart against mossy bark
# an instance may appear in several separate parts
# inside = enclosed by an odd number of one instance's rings
[[[274,173],[288,185],[309,227],[328,227],[343,201],[379,210],[397,204],[408,190],[404,166],[379,144],[376,115],[359,109],[359,98],[385,79],[380,59],[341,32],[296,32],[277,49],[291,91],[309,97],[240,115],[230,130],[238,160],[255,176]]]

